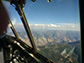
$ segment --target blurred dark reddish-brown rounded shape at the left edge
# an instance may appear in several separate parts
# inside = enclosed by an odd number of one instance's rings
[[[6,31],[8,26],[8,20],[9,20],[9,17],[8,17],[7,11],[0,0],[0,35],[2,35],[4,31]]]

